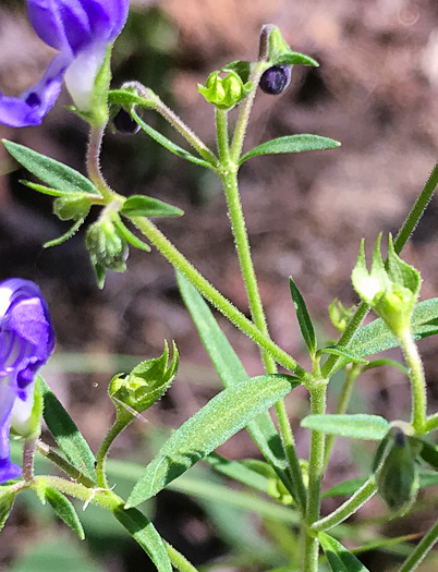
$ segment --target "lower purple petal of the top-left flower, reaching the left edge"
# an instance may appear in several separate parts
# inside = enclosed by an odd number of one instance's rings
[[[50,62],[42,78],[20,97],[0,93],[0,123],[11,127],[39,125],[61,92],[62,81],[72,56],[60,53]]]

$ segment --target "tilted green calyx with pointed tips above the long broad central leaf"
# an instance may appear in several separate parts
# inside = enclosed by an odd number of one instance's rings
[[[169,362],[169,346],[160,357],[142,362],[129,375],[119,374],[112,378],[108,394],[115,405],[118,415],[135,415],[149,409],[171,386],[179,366],[179,353],[173,343],[173,357]]]

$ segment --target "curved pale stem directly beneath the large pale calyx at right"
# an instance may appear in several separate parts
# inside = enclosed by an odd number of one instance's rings
[[[411,423],[417,434],[424,435],[426,430],[427,388],[422,358],[410,329],[404,330],[398,338],[412,386]]]

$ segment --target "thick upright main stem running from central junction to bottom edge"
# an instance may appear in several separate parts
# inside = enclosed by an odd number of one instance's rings
[[[319,380],[311,389],[311,406],[313,415],[326,413],[327,381]],[[308,490],[305,523],[309,528],[319,519],[321,499],[321,479],[324,473],[325,435],[323,431],[312,431],[311,455],[308,461]],[[318,538],[309,530],[305,531],[303,570],[318,572]]]

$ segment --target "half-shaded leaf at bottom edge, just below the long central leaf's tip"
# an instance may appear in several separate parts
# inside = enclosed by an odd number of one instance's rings
[[[117,509],[115,519],[149,556],[160,572],[172,572],[172,567],[161,536],[154,524],[137,509]]]

